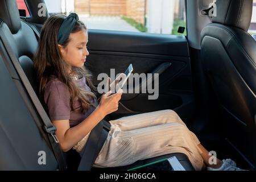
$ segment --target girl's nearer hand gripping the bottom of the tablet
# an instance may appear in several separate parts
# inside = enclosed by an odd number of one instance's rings
[[[121,99],[123,90],[119,90],[119,92],[111,94],[111,90],[107,93],[105,93],[103,96],[101,96],[101,101],[99,104],[99,109],[101,110],[104,117],[110,113],[113,113],[114,111],[118,110],[118,101]]]

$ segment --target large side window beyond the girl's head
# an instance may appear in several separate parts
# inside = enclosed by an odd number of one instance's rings
[[[44,0],[48,13],[75,12],[88,28],[186,35],[185,0]]]

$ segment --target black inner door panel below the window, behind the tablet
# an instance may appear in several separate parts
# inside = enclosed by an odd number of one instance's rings
[[[133,73],[147,74],[170,64],[159,75],[157,100],[148,100],[148,93],[123,93],[118,110],[109,119],[162,109],[176,110],[188,122],[193,118],[191,64],[184,36],[89,30],[88,50],[85,67],[96,86],[101,82],[97,76],[107,73],[110,77],[110,69],[117,75],[133,64]]]

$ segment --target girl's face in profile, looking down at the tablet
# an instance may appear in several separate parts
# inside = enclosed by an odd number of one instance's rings
[[[70,65],[70,67],[81,68],[84,66],[86,61],[86,56],[89,55],[89,52],[86,48],[88,43],[88,33],[85,30],[76,32],[69,35],[69,43],[64,48],[59,45],[61,55],[63,56],[64,61]]]

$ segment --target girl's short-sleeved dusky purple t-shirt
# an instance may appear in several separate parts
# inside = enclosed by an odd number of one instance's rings
[[[89,86],[86,84],[85,77],[75,80],[75,82],[77,85],[82,86],[91,92]],[[90,106],[89,110],[83,114],[81,110],[81,101],[76,99],[73,102],[74,110],[71,111],[70,94],[67,85],[53,76],[51,76],[49,82],[46,84],[44,90],[44,102],[46,103],[51,121],[69,119],[71,127],[84,121],[84,119],[95,109],[95,107]],[[98,105],[97,100],[94,100],[93,102],[96,106]]]

